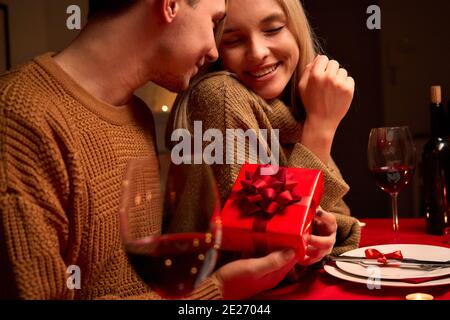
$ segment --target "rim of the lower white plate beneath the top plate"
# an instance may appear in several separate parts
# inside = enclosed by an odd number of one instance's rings
[[[445,279],[436,279],[431,280],[427,282],[422,283],[408,283],[408,282],[402,282],[399,280],[384,280],[384,279],[376,279],[376,278],[366,278],[366,277],[359,277],[355,276],[349,273],[346,273],[345,271],[342,271],[336,267],[325,265],[324,267],[325,271],[342,280],[347,280],[351,282],[356,283],[362,283],[367,286],[369,289],[378,289],[382,287],[408,287],[408,288],[418,288],[418,287],[433,287],[433,286],[443,286],[443,285],[450,285],[450,277]],[[379,287],[378,287],[379,286]]]

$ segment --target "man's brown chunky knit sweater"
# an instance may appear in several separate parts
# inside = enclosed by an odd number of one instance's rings
[[[142,101],[98,101],[51,54],[0,78],[0,298],[159,298],[129,265],[118,224],[127,162],[150,157],[146,205],[160,230],[153,130]],[[79,290],[66,284],[71,265]],[[209,279],[191,298],[220,297]]]

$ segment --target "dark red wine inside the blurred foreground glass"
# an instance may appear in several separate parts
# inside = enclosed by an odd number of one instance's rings
[[[152,290],[166,298],[185,296],[197,287],[216,260],[211,233],[149,236],[126,245],[129,261]]]

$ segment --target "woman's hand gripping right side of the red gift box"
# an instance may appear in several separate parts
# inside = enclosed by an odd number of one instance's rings
[[[306,249],[307,265],[314,264],[329,255],[336,242],[337,223],[335,216],[319,208],[313,221],[313,234]]]

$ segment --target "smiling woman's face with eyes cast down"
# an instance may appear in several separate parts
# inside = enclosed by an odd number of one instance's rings
[[[252,12],[248,15],[248,12]],[[222,66],[260,97],[283,94],[300,50],[277,0],[230,1],[220,53]]]

